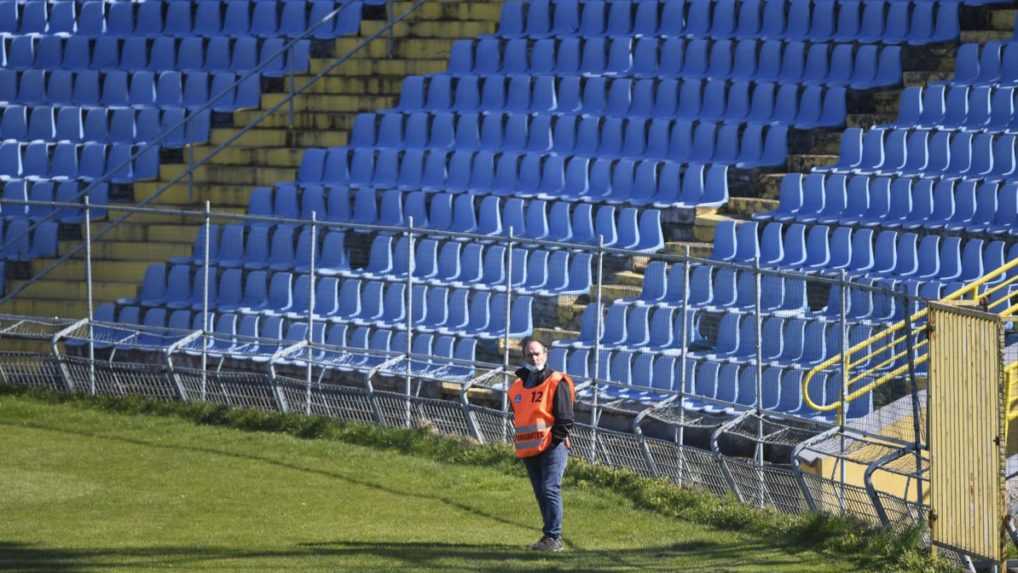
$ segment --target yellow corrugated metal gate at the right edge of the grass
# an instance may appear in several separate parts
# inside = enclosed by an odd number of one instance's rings
[[[1004,558],[1003,328],[968,304],[929,304],[930,533]]]

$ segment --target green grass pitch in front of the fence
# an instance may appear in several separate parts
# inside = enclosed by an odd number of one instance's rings
[[[521,476],[334,441],[0,396],[0,570],[854,571],[565,493],[569,551],[525,551]]]

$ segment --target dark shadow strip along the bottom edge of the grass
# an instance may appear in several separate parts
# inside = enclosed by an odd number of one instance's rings
[[[786,565],[806,570],[806,564],[799,561],[775,559],[773,554],[762,559],[755,555],[769,549],[762,543],[692,541],[654,548],[570,550],[560,554],[544,554],[507,545],[346,540],[300,543],[289,550],[276,551],[183,547],[63,550],[0,542],[0,570],[54,573],[76,573],[111,567],[131,571],[167,567],[210,570],[242,567],[269,570],[300,568],[313,564],[330,571],[413,569],[488,573],[504,573],[507,570],[592,569],[675,571],[679,568],[682,571],[718,571],[741,567],[781,570]],[[680,561],[677,563],[673,560]],[[287,563],[288,561],[292,562]]]

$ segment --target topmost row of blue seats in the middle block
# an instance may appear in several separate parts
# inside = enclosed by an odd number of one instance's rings
[[[577,0],[502,6],[499,35],[690,36],[923,44],[959,34],[957,1]]]

